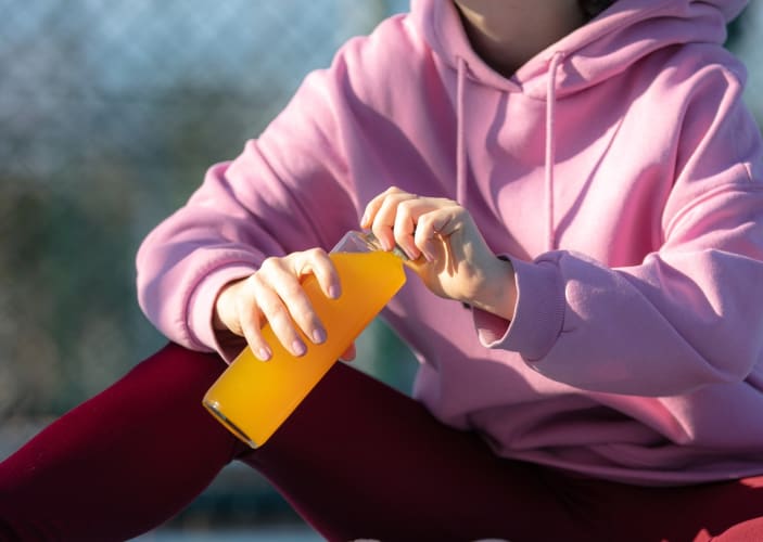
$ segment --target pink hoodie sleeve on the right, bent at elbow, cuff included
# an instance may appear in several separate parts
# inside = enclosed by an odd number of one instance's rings
[[[624,268],[565,250],[512,259],[516,317],[475,311],[483,345],[613,393],[685,393],[750,374],[763,348],[760,132],[739,80],[720,69],[700,77],[683,119],[661,246]]]

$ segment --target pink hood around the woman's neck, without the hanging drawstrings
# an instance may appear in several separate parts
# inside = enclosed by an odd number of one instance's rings
[[[689,42],[723,43],[726,24],[748,0],[616,0],[585,26],[531,59],[511,78],[487,66],[472,50],[450,0],[411,0],[411,15],[434,52],[468,77],[506,91],[544,99],[555,56],[556,95],[563,96],[616,75],[656,50]]]

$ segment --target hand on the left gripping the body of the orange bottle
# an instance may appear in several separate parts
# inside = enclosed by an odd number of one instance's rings
[[[215,330],[244,337],[254,354],[266,361],[272,356],[260,332],[267,322],[288,351],[303,356],[307,346],[297,330],[316,345],[327,337],[302,287],[302,280],[309,274],[315,275],[327,297],[336,299],[341,295],[339,274],[326,250],[313,248],[270,257],[252,275],[222,287],[215,301]],[[342,359],[354,357],[355,348],[351,346]]]

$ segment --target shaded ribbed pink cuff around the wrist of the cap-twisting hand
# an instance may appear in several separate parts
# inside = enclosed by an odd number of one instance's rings
[[[517,308],[511,322],[473,309],[480,343],[487,348],[519,352],[525,361],[541,360],[561,333],[564,292],[551,261],[529,263],[508,257],[514,268]]]

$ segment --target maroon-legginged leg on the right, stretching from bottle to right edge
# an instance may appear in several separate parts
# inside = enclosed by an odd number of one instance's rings
[[[239,459],[330,540],[736,542],[763,530],[763,477],[645,488],[500,459],[344,364]]]

